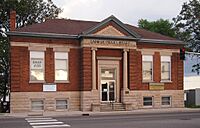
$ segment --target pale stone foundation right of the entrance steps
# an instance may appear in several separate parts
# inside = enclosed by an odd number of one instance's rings
[[[184,91],[183,90],[163,90],[163,91],[129,91],[124,95],[124,104],[132,104],[132,109],[145,108],[143,106],[143,97],[153,97],[152,108],[182,108],[184,107]],[[171,105],[163,106],[162,96],[171,97]]]

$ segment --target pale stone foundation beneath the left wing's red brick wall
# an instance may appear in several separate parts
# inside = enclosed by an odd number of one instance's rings
[[[56,100],[68,100],[68,109],[80,111],[80,92],[11,92],[11,113],[31,112],[31,100],[42,99],[44,111],[57,111]],[[58,110],[61,111],[61,110]]]

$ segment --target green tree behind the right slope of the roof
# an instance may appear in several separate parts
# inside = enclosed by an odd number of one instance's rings
[[[143,28],[152,32],[157,32],[162,35],[175,37],[175,30],[173,23],[169,20],[159,19],[156,21],[148,21],[146,19],[140,19],[138,21],[139,28]]]

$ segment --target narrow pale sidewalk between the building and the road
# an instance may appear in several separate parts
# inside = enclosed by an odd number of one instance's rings
[[[162,109],[139,109],[133,111],[110,111],[110,112],[43,112],[43,113],[0,113],[0,118],[24,118],[34,116],[59,117],[59,116],[105,116],[105,115],[145,115],[145,114],[164,114],[178,112],[200,112],[200,108],[162,108]]]

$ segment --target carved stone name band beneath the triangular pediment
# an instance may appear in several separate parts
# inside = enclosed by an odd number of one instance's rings
[[[84,39],[83,47],[97,48],[136,48],[136,42],[126,40],[109,40],[109,39]]]

